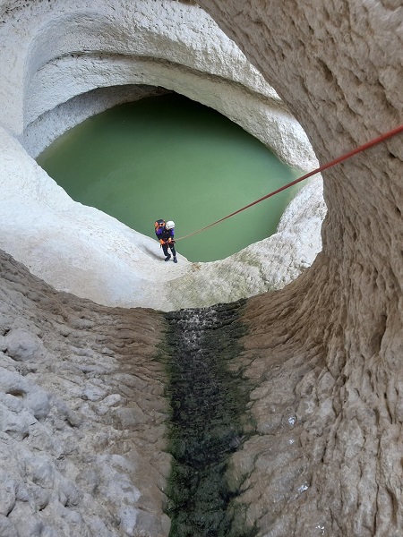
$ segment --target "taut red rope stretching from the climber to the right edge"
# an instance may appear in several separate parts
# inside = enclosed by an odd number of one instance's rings
[[[209,229],[209,227],[216,226],[220,222],[223,222],[224,220],[227,220],[227,218],[234,217],[238,213],[242,212],[245,209],[249,209],[250,207],[253,207],[253,205],[256,205],[257,203],[260,203],[263,200],[267,200],[268,198],[271,198],[272,196],[275,196],[279,192],[282,192],[289,188],[290,186],[294,186],[296,183],[301,183],[301,181],[304,181],[304,179],[307,179],[308,177],[312,177],[312,175],[320,174],[323,170],[327,170],[331,166],[335,166],[336,164],[339,164],[340,162],[343,162],[344,160],[347,160],[347,158],[353,157],[357,153],[360,153],[361,151],[364,151],[365,149],[372,148],[374,145],[377,145],[378,143],[381,143],[382,141],[388,140],[388,138],[391,138],[392,136],[395,136],[396,134],[399,134],[399,132],[403,131],[403,124],[399,127],[396,127],[395,129],[392,129],[389,132],[385,132],[381,136],[378,136],[378,138],[373,138],[371,141],[367,141],[361,146],[358,146],[356,149],[353,149],[352,151],[349,151],[348,153],[345,153],[339,158],[335,158],[334,160],[330,160],[327,164],[323,164],[323,166],[319,166],[318,168],[314,169],[312,172],[309,172],[308,174],[303,175],[302,177],[298,177],[295,181],[291,181],[291,183],[287,183],[284,186],[281,186],[277,190],[270,192],[269,194],[266,194],[262,198],[259,198],[259,200],[255,200],[252,203],[249,203],[249,205],[245,205],[241,209],[237,209],[230,215],[227,215],[227,217],[219,218],[219,220],[216,220],[212,224],[209,224],[209,226],[201,227],[201,229],[198,229],[197,231],[193,231],[193,233],[184,235],[183,237],[179,237],[176,239],[176,241],[182,241],[183,239],[187,239],[187,237],[191,237],[193,234],[201,233],[201,231],[205,231],[206,229]]]

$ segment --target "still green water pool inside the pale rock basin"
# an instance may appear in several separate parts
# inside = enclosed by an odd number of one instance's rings
[[[301,175],[238,125],[176,94],[94,115],[51,144],[38,163],[85,205],[155,238],[154,221],[190,234]],[[226,258],[276,232],[299,185],[178,241],[188,260]]]

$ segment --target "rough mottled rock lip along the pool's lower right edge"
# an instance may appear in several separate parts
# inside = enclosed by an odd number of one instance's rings
[[[281,289],[311,266],[322,250],[325,215],[322,179],[316,178],[289,204],[276,234],[226,260],[193,263],[189,275],[169,283],[171,302],[176,309],[210,306]]]

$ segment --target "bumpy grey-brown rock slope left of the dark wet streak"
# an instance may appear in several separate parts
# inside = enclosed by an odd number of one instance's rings
[[[0,259],[0,535],[167,535],[160,316]]]

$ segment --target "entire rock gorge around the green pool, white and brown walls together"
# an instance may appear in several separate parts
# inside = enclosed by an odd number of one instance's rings
[[[313,169],[403,124],[401,4],[0,13],[0,535],[400,537],[403,135],[175,268],[35,158],[173,90]]]

